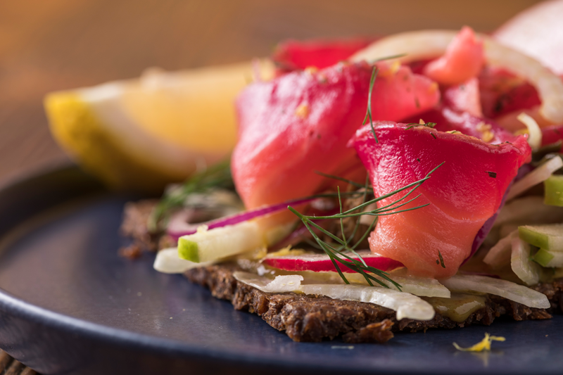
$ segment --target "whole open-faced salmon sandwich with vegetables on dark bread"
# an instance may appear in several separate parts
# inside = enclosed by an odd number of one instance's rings
[[[232,158],[130,203],[127,254],[295,341],[549,319],[563,82],[507,46],[524,21],[280,44],[236,97]]]

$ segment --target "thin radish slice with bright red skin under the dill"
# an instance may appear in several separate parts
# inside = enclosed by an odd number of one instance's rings
[[[366,265],[381,269],[381,271],[403,267],[401,262],[381,257],[369,250],[358,251],[358,254],[365,261]],[[348,253],[347,255],[358,260],[358,257],[353,255],[353,253]],[[329,255],[325,254],[267,256],[262,262],[270,267],[284,269],[285,271],[336,272],[336,268],[334,268]],[[342,272],[355,273],[355,271],[342,265],[340,262],[337,262],[337,264]]]

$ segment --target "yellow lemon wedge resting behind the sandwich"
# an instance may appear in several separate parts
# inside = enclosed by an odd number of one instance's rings
[[[270,77],[272,65],[258,64]],[[158,192],[225,158],[236,142],[234,98],[252,63],[164,72],[45,98],[51,133],[84,170],[115,189]]]

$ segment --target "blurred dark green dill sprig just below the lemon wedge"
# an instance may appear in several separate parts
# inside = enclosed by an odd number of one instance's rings
[[[179,189],[172,189],[164,194],[148,217],[147,228],[157,233],[165,227],[165,221],[173,210],[182,208],[186,198],[192,193],[203,193],[213,188],[232,189],[234,187],[231,162],[229,159],[208,167],[187,179]]]

